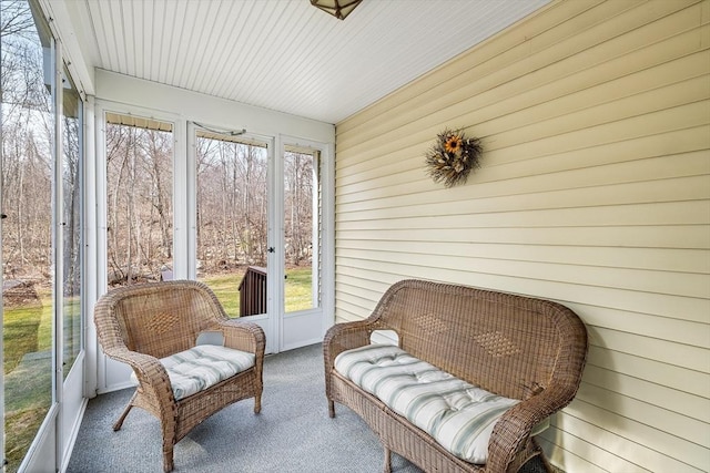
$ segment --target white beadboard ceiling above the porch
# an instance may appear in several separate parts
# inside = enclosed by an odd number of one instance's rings
[[[67,0],[89,66],[338,123],[549,0]]]

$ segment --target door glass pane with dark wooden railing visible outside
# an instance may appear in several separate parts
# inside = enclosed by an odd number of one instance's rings
[[[231,317],[266,311],[266,143],[197,131],[197,280]]]

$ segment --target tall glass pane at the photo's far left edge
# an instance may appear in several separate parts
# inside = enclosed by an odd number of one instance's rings
[[[52,403],[54,45],[27,1],[0,0],[3,389],[8,472]]]

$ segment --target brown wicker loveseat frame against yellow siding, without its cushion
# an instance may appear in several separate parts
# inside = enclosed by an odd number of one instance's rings
[[[470,383],[514,403],[491,423],[487,449],[484,445],[485,463],[462,460],[425,426],[415,425],[409,419],[412,404],[406,412],[398,412],[393,399],[398,402],[405,395],[381,400],[373,393],[382,392],[390,379],[371,382],[372,387],[367,385],[371,392],[346,369],[338,371],[336,359],[343,363],[345,356],[373,351],[371,338],[377,330],[396,332],[398,348],[405,352],[403,357],[422,360],[430,364],[429,371],[445,373],[437,376]],[[375,349],[390,351],[397,347]],[[335,415],[334,403],[338,402],[369,424],[384,446],[385,472],[390,471],[392,451],[426,472],[517,472],[536,455],[541,455],[545,467],[551,471],[532,433],[575,397],[586,362],[587,331],[575,312],[551,301],[403,280],[384,294],[367,319],[333,326],[325,336],[323,350],[329,415]],[[374,372],[377,364],[397,364],[393,360],[400,360],[398,357],[389,354],[384,358],[386,362],[366,360],[363,379],[373,378],[369,370]],[[398,377],[398,382],[403,378],[424,378],[419,373]],[[422,399],[410,398],[423,403]],[[449,409],[442,415],[446,419],[455,411],[456,408]]]

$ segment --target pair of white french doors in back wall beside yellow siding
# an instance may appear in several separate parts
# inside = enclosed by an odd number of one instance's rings
[[[267,352],[321,341],[324,146],[197,123],[187,135],[190,277],[258,323]]]

